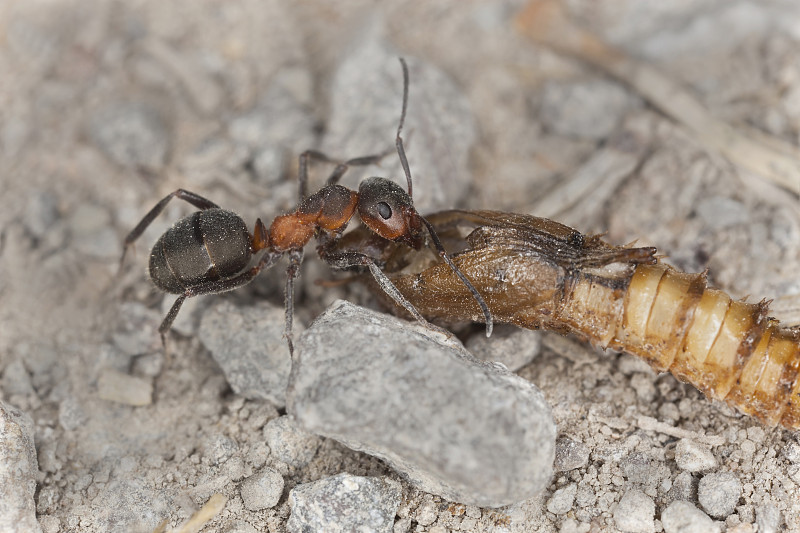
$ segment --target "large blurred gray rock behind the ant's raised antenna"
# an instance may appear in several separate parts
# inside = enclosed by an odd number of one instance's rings
[[[361,176],[383,176],[405,186],[394,146],[400,121],[403,77],[398,53],[380,30],[347,54],[331,80],[331,114],[323,150],[335,157],[387,153],[380,166],[353,169],[342,184],[357,188]],[[470,147],[477,128],[469,102],[444,72],[408,61],[410,88],[403,138],[420,212],[457,204],[469,190]]]

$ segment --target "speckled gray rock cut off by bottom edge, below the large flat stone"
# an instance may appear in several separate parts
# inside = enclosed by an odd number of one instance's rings
[[[397,481],[350,474],[298,485],[289,493],[286,530],[391,533],[401,495]]]

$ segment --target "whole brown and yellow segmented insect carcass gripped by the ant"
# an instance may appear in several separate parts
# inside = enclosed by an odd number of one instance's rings
[[[713,399],[769,426],[800,429],[800,331],[767,316],[767,303],[732,300],[705,273],[658,263],[654,248],[615,247],[557,222],[495,211],[431,215],[497,322],[575,333],[638,355]],[[464,239],[458,228],[474,228]],[[394,246],[386,272],[428,318],[481,319],[441,263],[414,264]]]

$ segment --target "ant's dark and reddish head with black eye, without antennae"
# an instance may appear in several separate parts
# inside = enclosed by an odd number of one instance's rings
[[[414,202],[386,178],[368,178],[358,187],[358,215],[369,229],[415,250],[422,246],[422,220]]]

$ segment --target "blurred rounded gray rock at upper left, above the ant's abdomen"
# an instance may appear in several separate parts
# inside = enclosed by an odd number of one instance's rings
[[[143,102],[116,102],[97,111],[89,132],[109,159],[129,168],[161,168],[172,137],[167,121]]]

